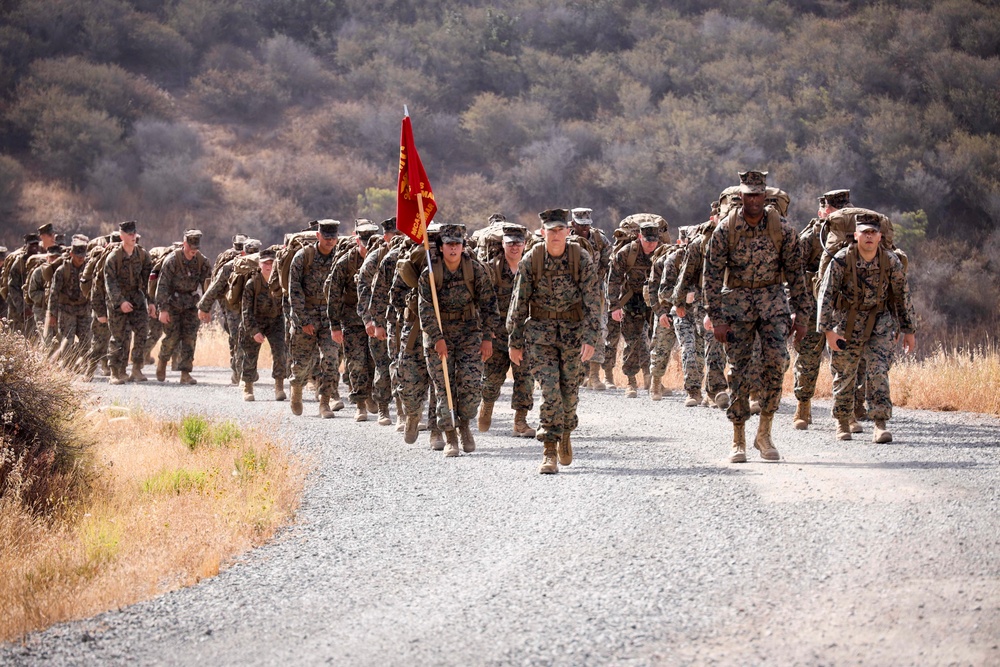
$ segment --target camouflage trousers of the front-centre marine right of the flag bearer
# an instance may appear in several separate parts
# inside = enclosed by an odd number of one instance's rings
[[[580,328],[566,329],[567,335],[558,340],[525,341],[525,361],[531,376],[542,387],[539,426],[535,434],[542,442],[558,441],[564,431],[574,430],[578,423],[576,406],[587,364],[580,360]]]

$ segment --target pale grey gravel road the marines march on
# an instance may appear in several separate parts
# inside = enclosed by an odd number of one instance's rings
[[[295,525],[218,577],[0,647],[4,665],[997,665],[1000,420],[897,410],[834,440],[775,420],[784,460],[726,462],[724,414],[581,391],[576,461],[499,406],[479,449],[256,403],[228,384],[95,391],[273,421],[316,471]],[[537,415],[537,409],[535,410]],[[748,426],[748,436],[756,419]],[[859,439],[860,438],[860,439]]]

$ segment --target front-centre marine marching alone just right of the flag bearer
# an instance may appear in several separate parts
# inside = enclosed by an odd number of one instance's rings
[[[569,211],[550,209],[538,217],[545,242],[521,260],[507,330],[511,361],[528,364],[541,385],[535,437],[542,442],[543,459],[538,471],[552,474],[560,463],[573,461],[580,383],[600,339],[600,287],[590,255],[566,243]]]

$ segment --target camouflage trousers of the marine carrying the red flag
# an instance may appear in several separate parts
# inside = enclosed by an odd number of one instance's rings
[[[451,385],[452,404],[459,419],[474,419],[482,395],[483,359],[479,352],[482,338],[478,331],[469,332],[464,322],[444,325],[445,343],[448,345],[448,381]],[[426,339],[424,342],[428,342]],[[437,425],[442,431],[456,427],[448,410],[448,396],[444,388],[444,368],[433,347],[424,346],[427,372],[434,382],[437,395]]]

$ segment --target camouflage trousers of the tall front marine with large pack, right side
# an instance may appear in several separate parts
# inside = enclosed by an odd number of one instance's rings
[[[734,340],[726,343],[726,355],[733,366],[729,383],[732,403],[726,414],[729,420],[741,424],[750,416],[750,390],[759,383],[761,413],[774,414],[781,400],[781,382],[788,367],[786,339],[791,322],[787,317],[750,322],[732,322]],[[753,362],[754,339],[761,342],[760,363]],[[759,378],[759,379],[757,379]]]

